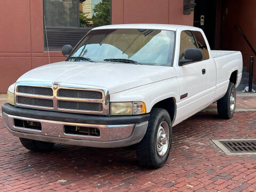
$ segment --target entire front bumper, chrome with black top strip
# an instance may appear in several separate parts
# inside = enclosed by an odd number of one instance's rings
[[[101,148],[125,147],[140,142],[147,131],[149,119],[149,115],[106,117],[22,109],[8,103],[2,106],[2,111],[5,126],[14,136]],[[17,127],[13,119],[39,122],[42,130]],[[67,134],[64,125],[96,127],[100,130],[100,136]]]

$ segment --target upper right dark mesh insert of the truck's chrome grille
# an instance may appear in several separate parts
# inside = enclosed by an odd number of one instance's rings
[[[63,98],[79,98],[79,99],[102,99],[102,93],[91,90],[76,90],[76,89],[59,89],[58,97]]]

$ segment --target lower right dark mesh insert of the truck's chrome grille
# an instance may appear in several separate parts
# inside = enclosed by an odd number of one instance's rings
[[[58,101],[59,109],[72,109],[84,111],[102,111],[102,103],[76,102],[76,101]]]

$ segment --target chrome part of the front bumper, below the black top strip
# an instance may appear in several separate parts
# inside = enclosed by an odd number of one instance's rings
[[[14,126],[13,119],[40,122],[42,130],[32,130]],[[114,148],[130,146],[141,141],[144,137],[148,121],[138,124],[125,125],[98,125],[49,121],[44,119],[27,118],[13,116],[3,113],[4,124],[9,132],[20,138],[33,139],[53,143],[63,143],[67,145]],[[100,136],[87,136],[77,134],[66,134],[63,126],[86,126],[96,127],[100,130]]]

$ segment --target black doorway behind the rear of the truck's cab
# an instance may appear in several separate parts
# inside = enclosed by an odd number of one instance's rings
[[[217,0],[196,0],[194,27],[203,29],[211,49],[215,49],[215,22]]]

